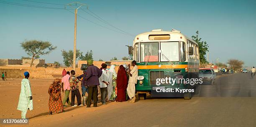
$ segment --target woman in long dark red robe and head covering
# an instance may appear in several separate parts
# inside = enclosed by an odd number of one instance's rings
[[[128,80],[126,76],[126,71],[123,65],[120,65],[118,69],[118,75],[116,79],[117,85],[117,98],[116,102],[124,102],[126,101],[126,89],[128,85]]]

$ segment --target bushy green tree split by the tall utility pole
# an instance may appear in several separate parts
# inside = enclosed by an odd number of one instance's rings
[[[64,65],[67,67],[70,67],[73,64],[73,50],[61,50],[61,55],[63,56],[63,62]],[[80,50],[77,50],[76,52],[76,58],[79,57],[83,52],[80,52]]]

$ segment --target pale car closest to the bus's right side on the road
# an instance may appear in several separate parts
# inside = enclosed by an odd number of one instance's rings
[[[211,68],[199,68],[199,78],[202,78],[202,84],[215,84],[216,74]]]

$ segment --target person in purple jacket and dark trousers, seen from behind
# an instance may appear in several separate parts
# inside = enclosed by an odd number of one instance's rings
[[[88,87],[87,107],[91,107],[93,99],[93,107],[97,107],[98,92],[97,86],[100,85],[99,77],[102,75],[102,70],[94,66],[92,60],[87,60],[87,75],[85,77],[86,86]]]

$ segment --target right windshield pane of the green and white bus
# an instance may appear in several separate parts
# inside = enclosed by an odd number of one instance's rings
[[[161,62],[179,61],[179,42],[161,42]]]

